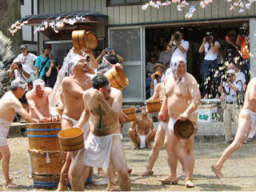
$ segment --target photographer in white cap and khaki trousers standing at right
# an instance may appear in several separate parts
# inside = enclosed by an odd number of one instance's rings
[[[235,70],[227,70],[222,77],[218,91],[222,93],[221,102],[224,110],[223,122],[226,144],[230,144],[233,141],[231,118],[234,120],[235,127],[238,128],[238,114],[242,107],[237,102],[238,91],[242,91],[242,82],[236,79]]]

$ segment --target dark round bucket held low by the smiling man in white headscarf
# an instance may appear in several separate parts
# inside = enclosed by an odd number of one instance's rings
[[[174,134],[177,138],[187,139],[194,133],[193,123],[189,119],[186,121],[177,120],[174,123]]]

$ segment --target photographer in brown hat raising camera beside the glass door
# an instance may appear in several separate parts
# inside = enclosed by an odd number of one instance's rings
[[[150,83],[150,96],[154,94],[154,87],[158,85],[158,83],[163,82],[165,75],[163,74],[164,70],[166,70],[166,66],[162,63],[157,63],[154,68],[154,73],[151,74],[151,83]]]

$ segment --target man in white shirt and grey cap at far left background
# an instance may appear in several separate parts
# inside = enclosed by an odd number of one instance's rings
[[[37,59],[37,56],[30,54],[26,45],[21,45],[20,50],[22,54],[19,54],[18,57],[14,59],[14,62],[21,62],[22,65],[29,66],[30,69],[33,69],[34,61]]]

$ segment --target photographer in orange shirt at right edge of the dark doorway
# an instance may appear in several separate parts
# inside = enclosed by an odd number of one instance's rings
[[[240,54],[242,57],[242,72],[246,75],[246,84],[250,81],[250,38],[248,23],[243,23],[238,30],[236,41],[240,46]]]

